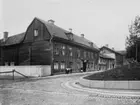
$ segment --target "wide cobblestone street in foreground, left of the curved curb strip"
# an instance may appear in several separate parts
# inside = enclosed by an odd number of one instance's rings
[[[84,75],[84,74],[83,74]],[[101,97],[64,87],[79,76],[28,80],[1,85],[0,105],[139,105],[137,98]]]

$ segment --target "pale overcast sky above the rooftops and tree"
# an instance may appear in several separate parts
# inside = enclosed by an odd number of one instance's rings
[[[25,32],[34,17],[55,24],[98,47],[125,49],[128,25],[140,14],[140,0],[0,0],[0,38]]]

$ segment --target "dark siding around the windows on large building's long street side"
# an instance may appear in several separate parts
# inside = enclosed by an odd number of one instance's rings
[[[87,49],[82,48],[80,46],[74,46],[74,45],[71,45],[71,44],[68,44],[68,43],[66,44],[66,43],[63,43],[62,41],[61,42],[60,41],[57,41],[57,42],[54,41],[54,43],[55,43],[54,49],[59,48],[60,51],[61,51],[61,46],[62,45],[65,45],[65,47],[66,47],[65,53],[68,53],[68,47],[72,47],[72,52],[73,52],[73,56],[72,57],[69,56],[68,54],[65,54],[65,56],[62,55],[61,53],[59,53],[59,55],[55,55],[54,54],[54,62],[58,62],[59,63],[59,66],[60,66],[60,63],[61,62],[65,62],[65,66],[66,67],[70,67],[69,63],[72,62],[73,63],[72,68],[76,72],[76,71],[79,71],[79,69],[82,67],[82,64],[83,64],[82,59],[83,60],[86,59],[86,60],[88,60],[88,62],[94,63],[94,64],[97,64],[97,62],[98,62],[98,55],[99,54],[96,51],[87,50]],[[81,51],[80,57],[77,57],[76,56],[77,49],[79,49]],[[97,53],[97,57],[94,57],[94,58],[86,57],[86,58],[84,58],[84,55],[83,55],[83,52],[84,51],[86,51],[86,52],[92,52],[92,53]],[[78,64],[77,64],[77,62],[78,62]],[[88,69],[90,69],[90,68],[88,68]],[[59,68],[58,71],[61,71],[60,68]]]

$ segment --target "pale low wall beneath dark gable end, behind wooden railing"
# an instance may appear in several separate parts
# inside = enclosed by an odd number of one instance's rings
[[[50,65],[38,65],[38,66],[0,66],[0,72],[16,71],[26,75],[26,76],[48,76],[51,75]],[[12,73],[2,73],[0,75],[12,75]],[[15,73],[15,76],[21,76]]]

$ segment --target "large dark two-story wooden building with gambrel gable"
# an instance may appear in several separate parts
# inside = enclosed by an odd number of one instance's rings
[[[51,65],[52,74],[66,68],[78,72],[97,69],[99,49],[84,34],[77,36],[53,20],[34,18],[26,32],[0,41],[1,65]]]

